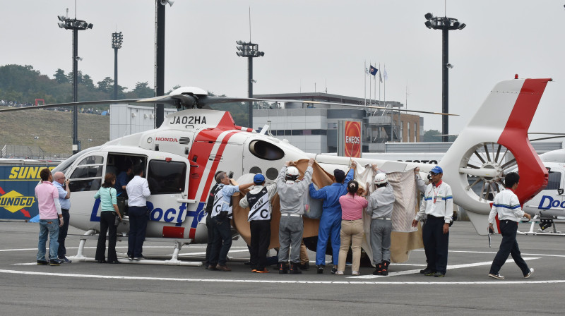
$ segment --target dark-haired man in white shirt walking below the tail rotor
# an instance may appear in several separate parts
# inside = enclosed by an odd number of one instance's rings
[[[494,197],[492,209],[489,214],[489,231],[493,230],[492,224],[494,223],[496,214],[499,216],[499,229],[502,233],[502,241],[500,243],[499,252],[492,261],[490,267],[489,277],[493,279],[504,279],[499,272],[508,256],[511,255],[516,265],[522,270],[522,274],[526,279],[534,273],[533,268],[528,268],[528,264],[522,259],[520,248],[518,248],[518,241],[516,241],[516,232],[518,231],[518,222],[521,217],[530,219],[530,214],[525,213],[520,207],[518,196],[514,193],[518,188],[518,181],[520,176],[516,172],[511,172],[504,178],[505,189]]]

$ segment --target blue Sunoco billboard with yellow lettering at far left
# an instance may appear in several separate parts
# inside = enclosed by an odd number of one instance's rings
[[[35,186],[45,167],[55,166],[0,165],[0,219],[29,220],[39,214]]]

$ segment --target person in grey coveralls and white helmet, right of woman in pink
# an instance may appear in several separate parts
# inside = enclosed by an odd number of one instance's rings
[[[375,172],[378,171],[376,164],[373,164],[373,169]],[[371,216],[371,250],[375,265],[373,274],[388,275],[388,265],[391,264],[394,190],[388,184],[386,174],[376,174],[374,183],[376,190],[369,196],[369,205],[367,205],[367,214]]]

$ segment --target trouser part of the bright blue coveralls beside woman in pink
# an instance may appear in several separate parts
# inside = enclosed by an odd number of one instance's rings
[[[328,248],[328,238],[331,238],[333,265],[338,265],[341,245],[340,231],[341,214],[335,218],[324,218],[322,214],[320,227],[318,229],[318,245],[316,245],[316,265],[326,265],[326,248]]]

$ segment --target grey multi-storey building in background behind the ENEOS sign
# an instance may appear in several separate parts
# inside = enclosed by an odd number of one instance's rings
[[[362,152],[384,152],[386,142],[419,142],[423,119],[399,112],[403,104],[396,101],[373,101],[372,105],[389,109],[352,109],[339,105],[309,104],[323,101],[363,105],[369,100],[330,95],[328,93],[285,93],[254,95],[261,99],[289,99],[304,102],[285,102],[272,109],[254,109],[253,128],[266,124],[276,138],[287,139],[305,152],[338,152],[338,126],[341,121],[360,121]]]

